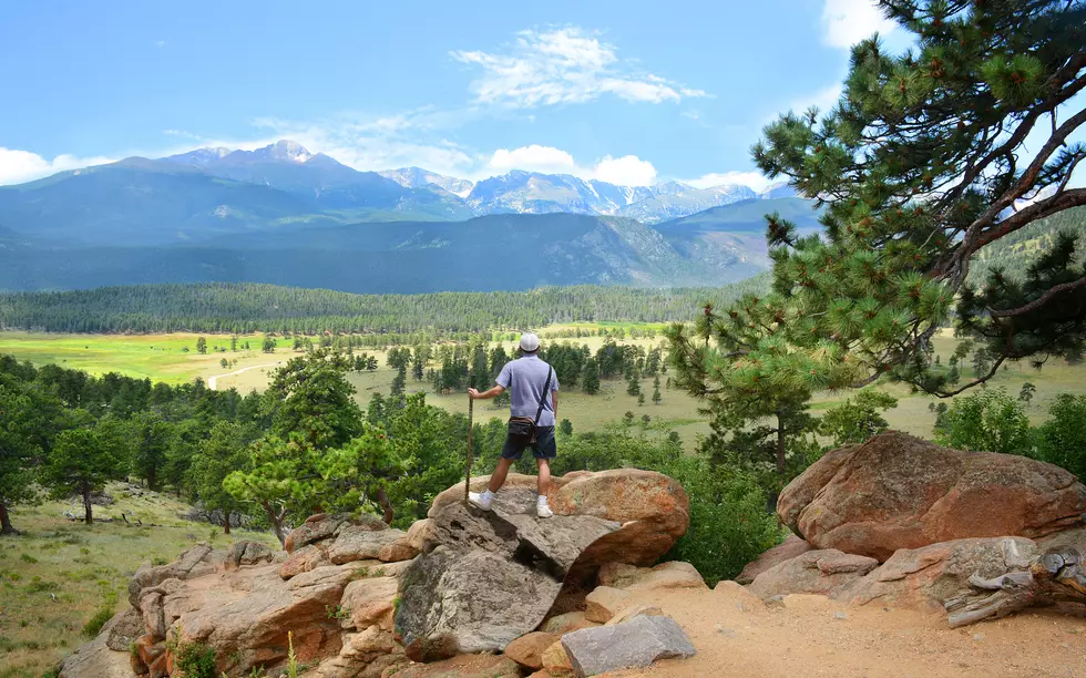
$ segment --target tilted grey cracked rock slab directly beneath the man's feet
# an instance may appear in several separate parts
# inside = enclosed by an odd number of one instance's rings
[[[436,661],[501,651],[534,630],[577,557],[619,524],[535,516],[535,493],[506,489],[483,512],[461,502],[432,512],[428,553],[400,578],[396,630],[408,657]]]

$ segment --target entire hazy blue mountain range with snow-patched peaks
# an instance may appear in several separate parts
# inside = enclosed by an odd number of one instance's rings
[[[0,290],[253,281],[359,292],[716,285],[768,267],[773,187],[616,186],[510,172],[478,183],[358,172],[281,141],[132,157],[0,187]]]

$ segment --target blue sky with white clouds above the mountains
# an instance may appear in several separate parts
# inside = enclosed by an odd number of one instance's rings
[[[8,2],[0,184],[293,138],[358,170],[757,188],[761,127],[829,105],[889,28],[868,0]]]

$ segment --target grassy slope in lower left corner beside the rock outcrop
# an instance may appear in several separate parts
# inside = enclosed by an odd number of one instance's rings
[[[226,548],[244,538],[279,547],[267,533],[227,536],[222,527],[183,520],[188,505],[133,490],[111,485],[114,503],[95,506],[95,518],[120,520],[123,511],[143,526],[73,522],[64,517],[72,508],[66,502],[12,511],[22,534],[0,537],[0,678],[38,678],[55,667],[86,641],[83,628],[95,613],[127,607],[129,579],[142,563],[164,564],[197,542]]]

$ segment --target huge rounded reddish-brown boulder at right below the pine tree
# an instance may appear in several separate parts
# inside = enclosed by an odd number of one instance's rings
[[[826,454],[785,487],[777,514],[816,548],[884,562],[900,548],[1082,525],[1086,485],[1044,462],[891,431]]]

